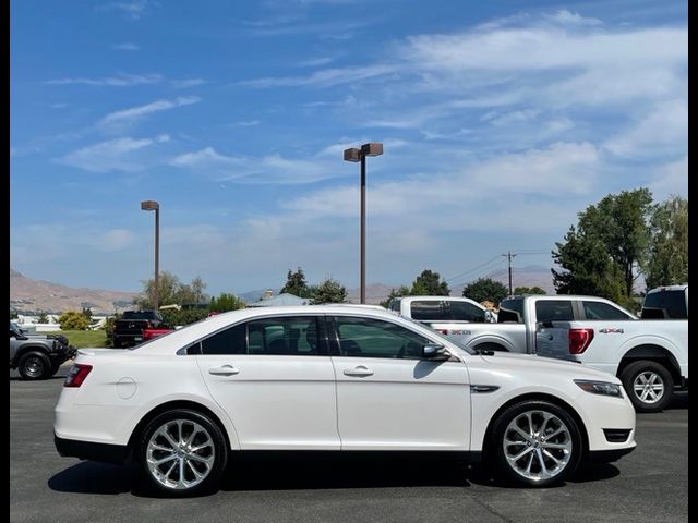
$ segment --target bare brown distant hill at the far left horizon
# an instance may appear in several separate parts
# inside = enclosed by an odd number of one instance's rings
[[[10,268],[10,309],[20,313],[62,313],[89,307],[95,314],[115,312],[115,302],[120,309],[131,305],[137,292],[104,291],[99,289],[75,289],[34,280]]]

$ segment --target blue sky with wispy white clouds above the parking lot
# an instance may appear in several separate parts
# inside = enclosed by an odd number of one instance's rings
[[[209,293],[551,266],[577,212],[687,196],[687,4],[12,1],[10,262]],[[529,254],[526,254],[529,253]],[[462,276],[458,276],[462,275]],[[454,278],[457,277],[457,278]]]

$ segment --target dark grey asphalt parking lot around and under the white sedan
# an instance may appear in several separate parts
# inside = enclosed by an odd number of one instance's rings
[[[221,489],[158,499],[139,471],[61,458],[53,406],[64,377],[10,375],[10,521],[234,522],[685,522],[688,520],[688,396],[638,415],[635,452],[587,466],[557,488],[494,484],[461,463],[306,454],[245,457]]]

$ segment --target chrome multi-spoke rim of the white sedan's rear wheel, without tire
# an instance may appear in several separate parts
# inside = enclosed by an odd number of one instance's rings
[[[160,426],[146,448],[147,467],[164,487],[185,490],[202,483],[216,459],[210,434],[191,419]]]

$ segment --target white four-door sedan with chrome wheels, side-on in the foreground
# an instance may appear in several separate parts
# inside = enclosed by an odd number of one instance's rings
[[[139,463],[174,496],[215,488],[241,450],[446,451],[525,486],[635,443],[618,379],[477,353],[361,306],[249,308],[132,350],[80,351],[56,406],[61,455]]]

